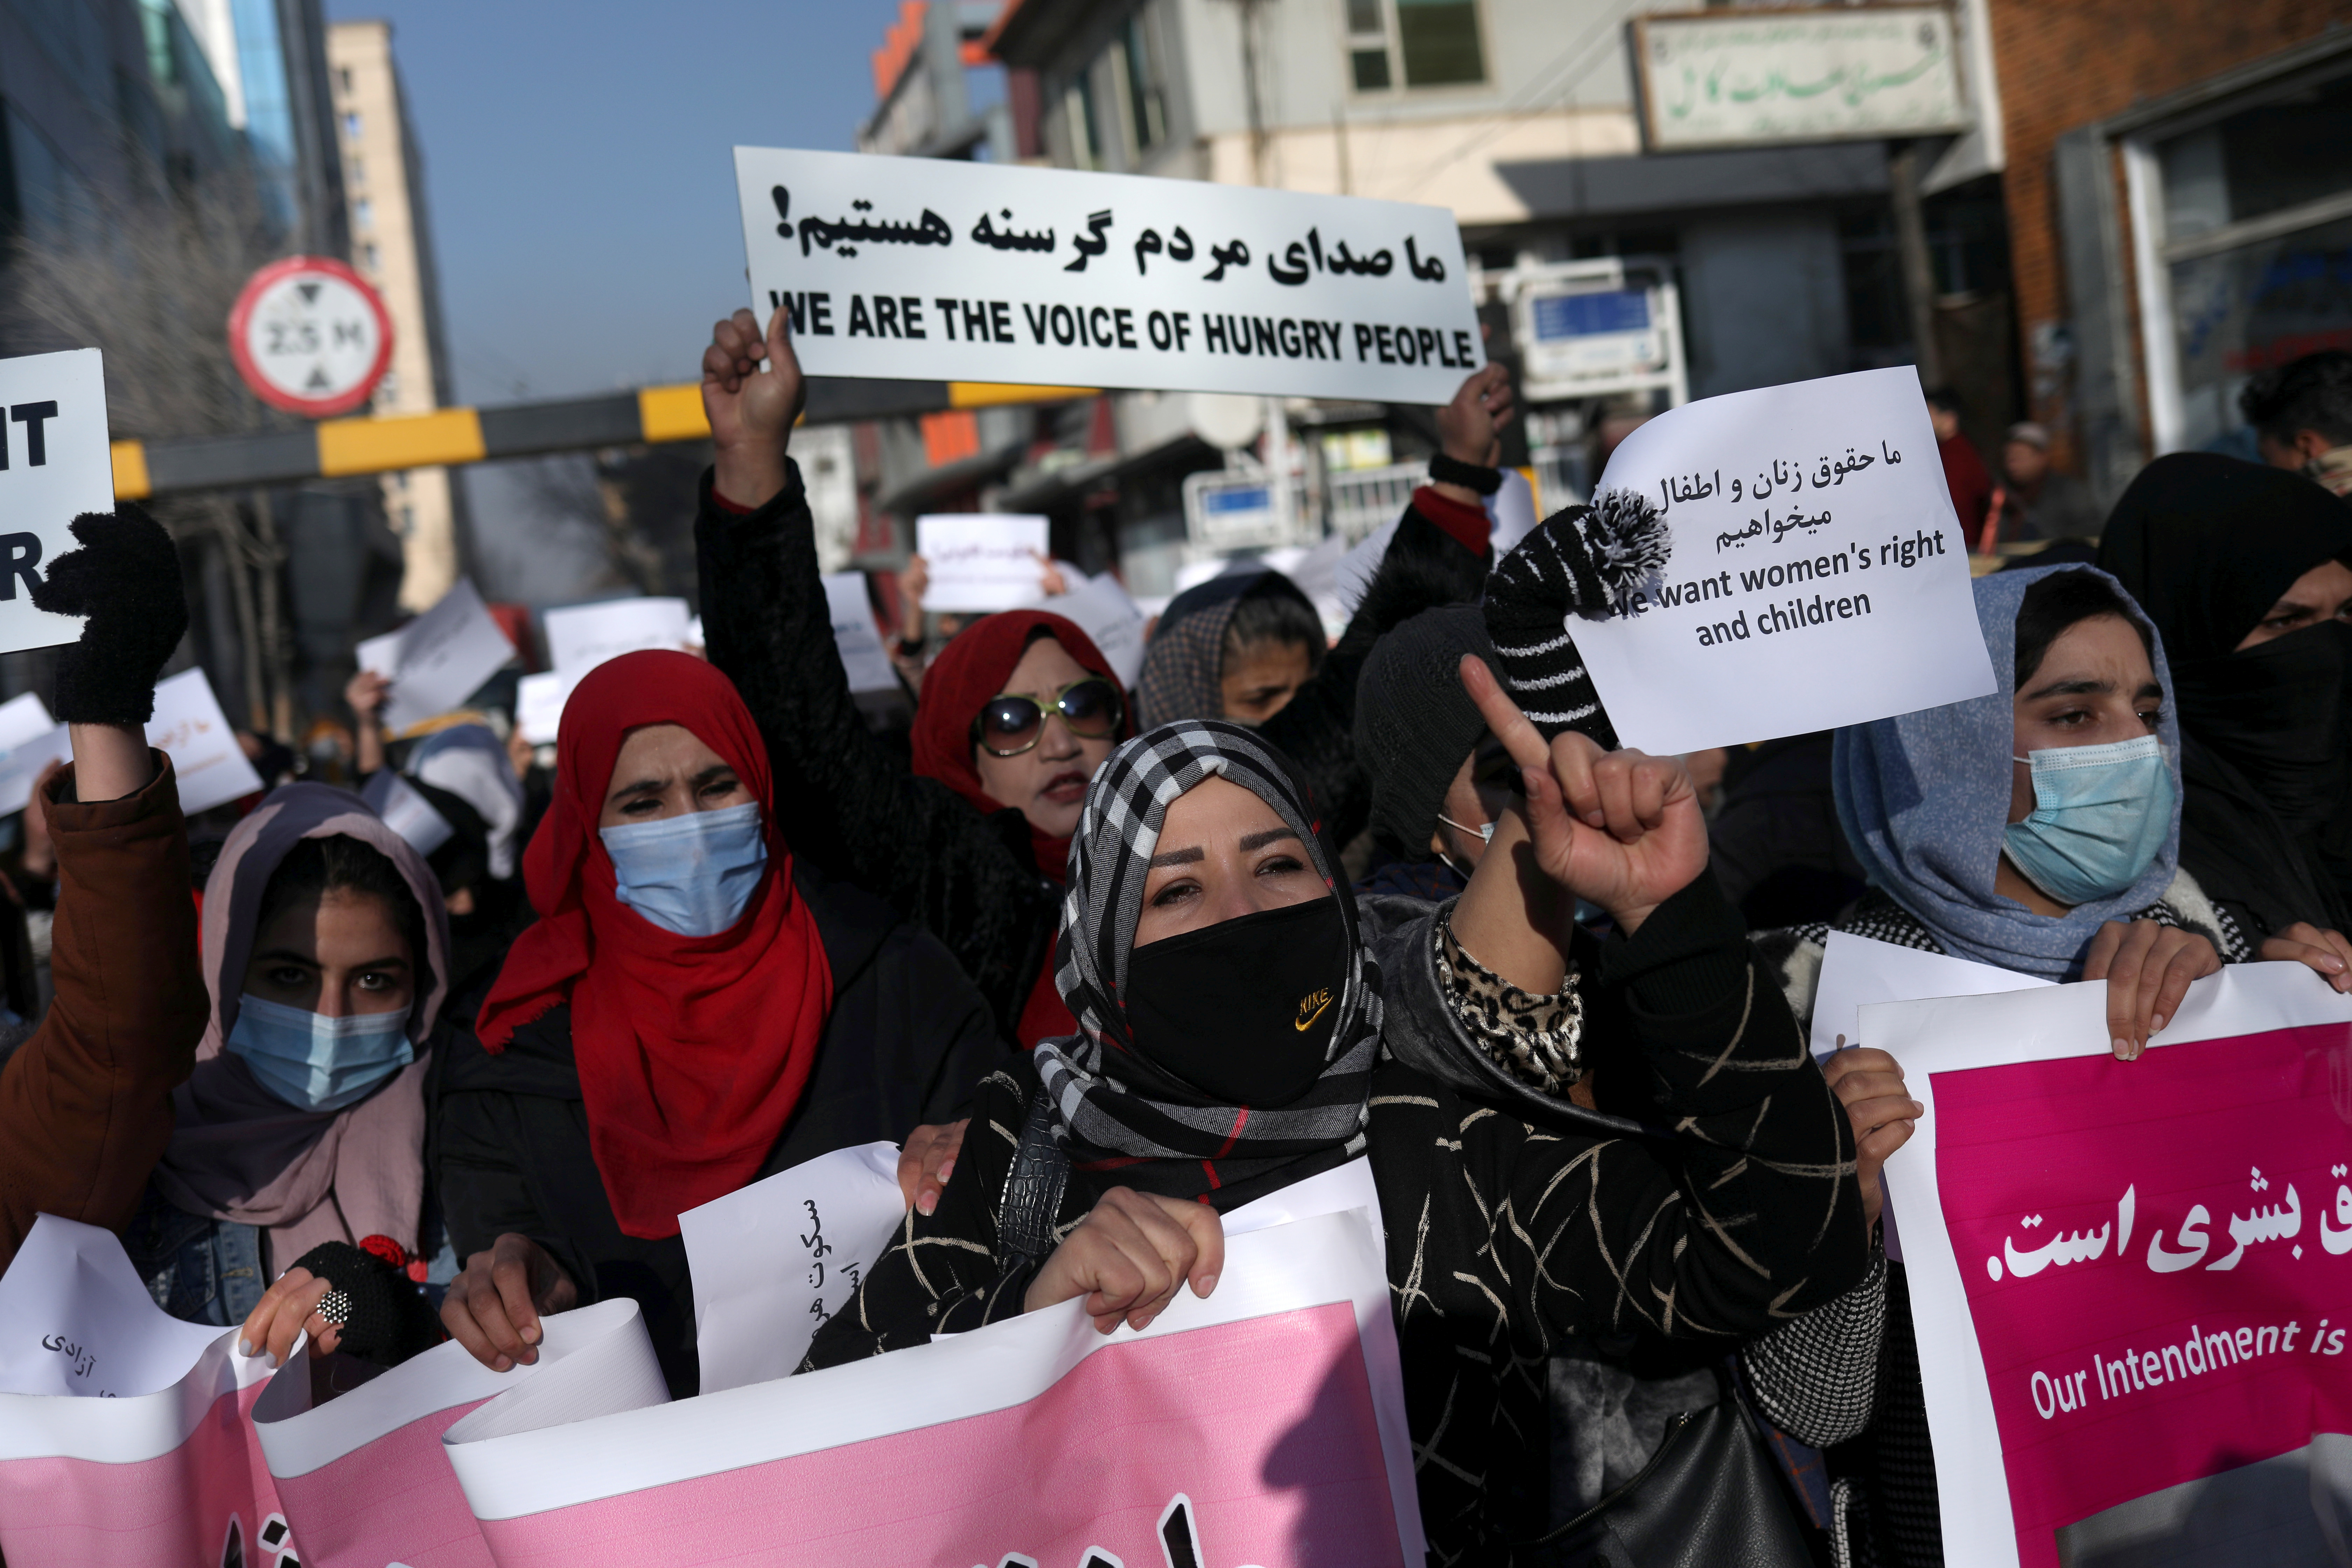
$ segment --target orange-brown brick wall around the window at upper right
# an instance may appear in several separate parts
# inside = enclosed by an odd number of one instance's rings
[[[2058,136],[2230,66],[2277,54],[2331,24],[2352,24],[2352,0],[1992,0],[1992,52],[2009,132],[2002,190],[2016,268],[2018,353],[2027,364],[2032,416],[2056,428],[2056,456],[2063,465],[2074,465],[2065,395],[2037,395],[2032,386],[2034,324],[2067,320],[2051,176]],[[2114,200],[2129,256],[2119,174]],[[2124,284],[2129,289],[2129,277]]]

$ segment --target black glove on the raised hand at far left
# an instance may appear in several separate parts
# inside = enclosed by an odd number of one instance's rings
[[[82,639],[56,651],[56,717],[66,724],[146,724],[155,677],[188,632],[179,550],[153,517],[127,501],[73,520],[80,550],[49,562],[33,604],[56,616],[89,616]]]

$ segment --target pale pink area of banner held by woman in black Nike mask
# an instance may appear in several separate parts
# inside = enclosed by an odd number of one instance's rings
[[[482,1533],[499,1568],[1404,1561],[1348,1302],[1110,1345],[1004,1410]]]

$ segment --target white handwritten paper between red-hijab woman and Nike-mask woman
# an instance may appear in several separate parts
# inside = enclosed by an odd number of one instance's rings
[[[677,1215],[703,1394],[790,1378],[903,1220],[894,1143],[818,1154]]]

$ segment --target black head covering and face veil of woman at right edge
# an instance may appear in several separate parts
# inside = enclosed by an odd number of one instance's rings
[[[2173,658],[2180,865],[2256,940],[2352,924],[2352,628],[2237,646],[2326,559],[2352,559],[2352,505],[2209,451],[2143,468],[2098,550]]]

